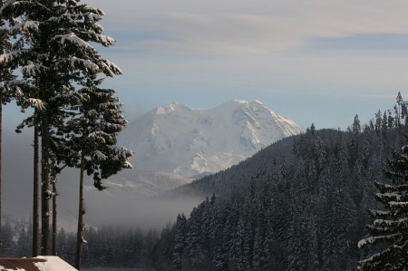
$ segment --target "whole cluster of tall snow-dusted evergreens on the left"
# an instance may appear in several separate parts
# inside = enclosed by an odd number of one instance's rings
[[[86,228],[84,175],[92,176],[97,189],[104,189],[102,179],[131,167],[131,151],[116,145],[117,134],[127,123],[121,103],[113,90],[102,88],[104,78],[121,70],[93,46],[114,44],[102,34],[102,16],[102,10],[80,0],[0,2],[0,107],[15,101],[25,112],[16,131],[34,128],[33,256],[40,248],[42,255],[56,254],[57,178],[65,167],[77,168],[78,269]]]

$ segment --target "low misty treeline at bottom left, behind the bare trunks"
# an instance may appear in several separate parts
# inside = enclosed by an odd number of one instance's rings
[[[32,223],[7,219],[2,226],[3,255],[30,256],[32,253]],[[159,239],[155,230],[139,227],[89,227],[85,232],[82,267],[135,267],[152,266],[151,251]],[[58,231],[57,256],[75,263],[76,233],[63,227]]]

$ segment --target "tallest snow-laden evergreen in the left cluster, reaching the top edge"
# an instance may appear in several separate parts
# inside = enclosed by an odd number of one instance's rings
[[[97,22],[103,13],[97,8],[80,5],[78,0],[15,0],[5,3],[2,14],[10,15],[7,22],[10,34],[24,44],[23,49],[7,55],[22,67],[25,87],[20,104],[23,109],[29,106],[38,109],[19,129],[26,125],[40,127],[42,254],[48,255],[49,200],[56,195],[49,189],[50,175],[59,173],[66,165],[73,166],[73,160],[80,160],[79,153],[66,151],[68,145],[63,134],[67,132],[64,121],[78,113],[81,102],[86,101],[77,87],[94,81],[101,73],[112,76],[121,71],[102,59],[90,44],[111,46],[114,43],[112,38],[102,34]],[[112,146],[109,151],[111,158],[126,152]],[[62,157],[62,153],[67,156]],[[60,163],[64,165],[58,166]],[[121,163],[122,160],[114,160],[112,166],[101,162],[99,168],[110,176],[119,170]]]

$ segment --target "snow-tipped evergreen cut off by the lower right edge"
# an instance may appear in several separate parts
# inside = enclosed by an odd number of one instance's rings
[[[370,236],[358,243],[358,247],[376,245],[379,252],[358,262],[360,270],[405,270],[408,266],[408,145],[395,151],[388,164],[385,176],[391,183],[374,182],[379,190],[375,198],[384,210],[370,210],[374,218],[373,225],[368,226]]]

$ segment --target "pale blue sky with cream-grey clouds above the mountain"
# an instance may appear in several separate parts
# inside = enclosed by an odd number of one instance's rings
[[[238,99],[303,127],[345,129],[408,95],[407,1],[82,3],[105,12],[116,44],[98,49],[123,72],[105,86],[130,121],[170,102],[210,109]]]

